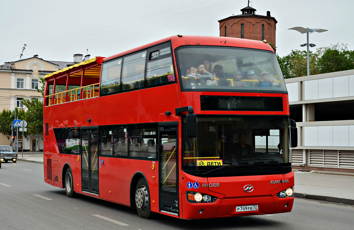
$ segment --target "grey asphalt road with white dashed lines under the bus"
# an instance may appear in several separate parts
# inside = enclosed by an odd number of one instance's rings
[[[210,220],[180,220],[158,215],[140,218],[135,210],[44,183],[43,165],[3,163],[0,169],[1,230],[211,230],[353,229],[354,206],[295,199],[291,213]]]

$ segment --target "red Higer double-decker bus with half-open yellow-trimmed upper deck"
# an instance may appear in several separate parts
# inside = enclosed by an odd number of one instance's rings
[[[45,80],[44,180],[69,197],[143,218],[291,211],[297,130],[265,41],[176,35]]]

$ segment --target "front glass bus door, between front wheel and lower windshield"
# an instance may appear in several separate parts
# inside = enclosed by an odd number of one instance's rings
[[[159,123],[160,211],[178,215],[178,122]]]

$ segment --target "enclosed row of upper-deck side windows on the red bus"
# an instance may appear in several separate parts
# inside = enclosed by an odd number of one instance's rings
[[[101,96],[175,83],[170,42],[102,64]]]

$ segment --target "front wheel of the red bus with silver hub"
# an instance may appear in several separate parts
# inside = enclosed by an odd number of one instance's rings
[[[152,218],[148,183],[144,178],[141,178],[136,185],[135,206],[140,217],[145,219]]]

